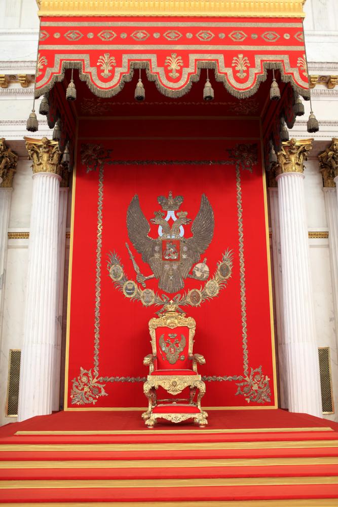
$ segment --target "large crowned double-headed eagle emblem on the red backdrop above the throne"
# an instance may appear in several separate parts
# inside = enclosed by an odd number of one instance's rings
[[[136,280],[145,286],[145,281],[151,278],[159,280],[159,288],[167,293],[175,293],[184,287],[187,277],[205,280],[209,276],[209,268],[198,263],[201,255],[209,246],[214,231],[214,214],[210,202],[205,194],[202,195],[200,210],[191,226],[191,237],[185,237],[184,227],[192,220],[187,218],[186,211],[178,211],[183,202],[182,196],[173,197],[169,192],[168,198],[158,197],[162,211],[155,211],[155,217],[150,220],[158,225],[158,238],[149,236],[151,225],[146,220],[135,195],[127,211],[128,236],[135,250],[142,256],[153,274],[144,276],[133,258],[128,245],[129,255],[137,273]],[[176,214],[175,214],[176,212]],[[177,216],[176,216],[177,215]]]

